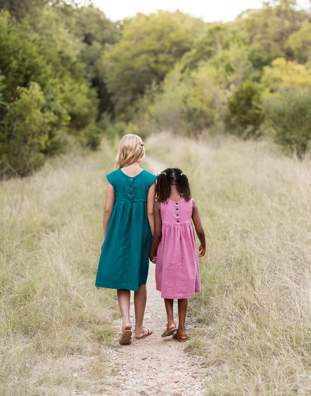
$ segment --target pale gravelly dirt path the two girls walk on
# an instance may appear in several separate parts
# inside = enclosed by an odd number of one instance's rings
[[[165,169],[152,158],[146,159],[148,168],[155,174]],[[108,378],[111,387],[107,395],[196,395],[204,394],[206,369],[200,358],[184,352],[187,343],[179,343],[172,337],[161,338],[165,329],[166,315],[163,299],[155,290],[155,265],[150,264],[147,281],[147,306],[144,326],[153,334],[144,340],[133,340],[131,345],[106,349],[111,365]],[[133,297],[133,294],[132,294]],[[177,305],[174,306],[175,320],[178,321]],[[131,322],[134,327],[134,302],[131,299]],[[122,321],[115,321],[118,331]],[[187,318],[188,329],[195,325]]]

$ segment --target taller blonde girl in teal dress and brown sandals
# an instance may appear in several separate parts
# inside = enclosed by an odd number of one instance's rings
[[[144,156],[142,139],[125,135],[120,142],[115,171],[107,175],[104,240],[95,286],[117,289],[123,324],[121,345],[131,343],[131,290],[134,291],[135,339],[152,334],[143,327],[143,320],[157,176],[140,168]]]

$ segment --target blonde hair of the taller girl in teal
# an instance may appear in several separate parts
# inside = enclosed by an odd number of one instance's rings
[[[137,135],[123,136],[119,145],[119,151],[115,158],[115,169],[124,168],[134,162],[142,162],[145,156],[144,142]]]

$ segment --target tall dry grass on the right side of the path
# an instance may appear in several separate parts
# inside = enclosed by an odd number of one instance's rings
[[[311,161],[225,138],[148,147],[187,173],[206,232],[190,349],[207,394],[311,394]]]

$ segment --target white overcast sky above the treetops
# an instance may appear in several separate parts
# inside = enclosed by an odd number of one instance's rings
[[[138,12],[149,14],[157,10],[188,13],[205,22],[232,21],[248,8],[261,8],[262,0],[93,0],[106,17],[117,21],[132,17]],[[298,0],[301,7],[308,8],[309,0]]]

